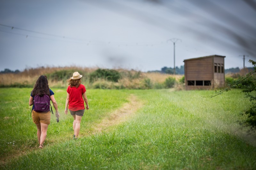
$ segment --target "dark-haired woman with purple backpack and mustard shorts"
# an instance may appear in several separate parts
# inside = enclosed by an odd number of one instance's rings
[[[57,102],[54,99],[54,92],[49,88],[47,77],[40,76],[36,80],[36,84],[30,94],[29,106],[33,105],[31,115],[33,122],[36,124],[37,139],[40,144],[39,148],[41,149],[43,148],[48,125],[51,120],[50,100],[56,111],[55,116],[59,118],[60,114],[58,112]]]

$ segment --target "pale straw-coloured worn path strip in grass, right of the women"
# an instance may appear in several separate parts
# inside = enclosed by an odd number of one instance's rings
[[[102,132],[103,130],[108,129],[108,127],[120,124],[122,122],[127,121],[133,115],[135,115],[136,111],[141,108],[144,104],[142,101],[138,100],[138,98],[131,94],[129,97],[129,102],[124,103],[124,105],[110,113],[107,117],[105,117],[99,124],[96,124],[91,131],[91,133],[97,134]]]

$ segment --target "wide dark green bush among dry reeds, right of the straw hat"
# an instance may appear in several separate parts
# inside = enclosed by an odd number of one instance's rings
[[[90,82],[94,82],[99,78],[105,79],[107,81],[113,81],[118,82],[118,80],[121,78],[121,75],[116,70],[110,70],[110,69],[98,69],[93,71],[89,75]]]

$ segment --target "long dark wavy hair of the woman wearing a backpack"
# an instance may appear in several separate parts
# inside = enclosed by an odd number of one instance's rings
[[[48,80],[46,76],[40,76],[36,80],[36,84],[31,93],[33,96],[36,96],[36,95],[43,96],[44,94],[48,94],[50,96],[50,88],[49,88]]]

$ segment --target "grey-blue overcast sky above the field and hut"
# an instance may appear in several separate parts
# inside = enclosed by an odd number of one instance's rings
[[[82,66],[161,70],[223,55],[256,60],[252,0],[0,0],[0,70]],[[169,41],[168,41],[169,40]],[[171,41],[172,40],[172,41]]]

